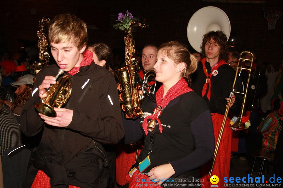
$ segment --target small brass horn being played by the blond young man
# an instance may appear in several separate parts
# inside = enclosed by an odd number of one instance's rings
[[[60,74],[64,73],[62,69],[59,69],[58,74],[55,76],[57,79]],[[42,102],[36,103],[35,108],[38,112],[48,117],[56,117],[57,113],[54,107],[61,108],[64,106],[72,92],[72,79],[70,76],[63,76],[56,84],[50,85],[50,88],[46,89],[47,97],[42,98]]]

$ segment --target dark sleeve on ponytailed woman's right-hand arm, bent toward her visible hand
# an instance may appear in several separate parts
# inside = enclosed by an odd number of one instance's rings
[[[214,131],[210,111],[206,110],[191,122],[195,150],[183,159],[171,162],[175,177],[196,169],[212,159],[214,154]]]

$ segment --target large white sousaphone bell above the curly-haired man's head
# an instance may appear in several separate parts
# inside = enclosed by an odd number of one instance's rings
[[[203,35],[218,30],[223,31],[229,39],[231,26],[228,16],[220,8],[203,7],[192,15],[187,27],[187,37],[193,49],[202,52],[200,45]]]

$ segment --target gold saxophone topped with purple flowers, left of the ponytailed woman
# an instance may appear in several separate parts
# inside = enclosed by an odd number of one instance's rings
[[[142,100],[139,98],[139,84],[135,71],[137,60],[134,58],[136,52],[135,41],[133,40],[133,26],[146,27],[145,23],[131,23],[130,28],[125,31],[125,63],[126,66],[116,70],[119,78],[117,88],[119,91],[119,100],[122,104],[122,110],[125,112],[125,118],[142,117],[143,110],[141,108]],[[144,79],[147,80],[147,79]],[[142,97],[143,99],[144,97]]]

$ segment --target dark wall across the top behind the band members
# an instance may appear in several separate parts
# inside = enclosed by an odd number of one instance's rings
[[[80,3],[78,3],[80,2]],[[247,1],[249,2],[249,1]],[[201,0],[180,1],[130,1],[130,0],[14,0],[2,3],[0,13],[0,50],[16,51],[24,46],[23,40],[37,42],[38,21],[42,17],[54,18],[58,13],[74,13],[87,24],[98,30],[88,30],[89,43],[104,42],[113,49],[124,50],[123,32],[115,30],[110,18],[119,12],[129,10],[149,26],[134,32],[136,48],[145,44],[161,44],[177,40],[189,45],[186,35],[187,24],[198,9],[206,6],[221,8],[228,15],[231,31],[240,40],[239,50],[254,48],[258,60],[265,60],[278,68],[283,58],[283,16],[276,23],[275,30],[268,30],[267,20],[261,8],[283,10],[281,0],[266,0],[256,3],[216,3]],[[112,25],[111,25],[112,24]]]

